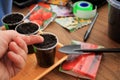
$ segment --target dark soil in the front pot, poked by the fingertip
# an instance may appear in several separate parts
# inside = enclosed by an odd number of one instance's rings
[[[36,47],[49,48],[57,43],[56,37],[51,34],[41,34],[41,36],[44,38],[44,42],[40,44],[35,44]]]

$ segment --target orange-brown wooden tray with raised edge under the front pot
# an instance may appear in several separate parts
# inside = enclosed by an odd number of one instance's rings
[[[42,78],[44,75],[52,71],[56,66],[61,64],[64,60],[67,59],[67,55],[58,52],[58,49],[62,46],[62,44],[58,43],[56,47],[56,55],[55,62],[52,66],[48,68],[40,67],[37,64],[37,59],[35,53],[28,54],[27,61],[25,67],[11,80],[38,80]]]

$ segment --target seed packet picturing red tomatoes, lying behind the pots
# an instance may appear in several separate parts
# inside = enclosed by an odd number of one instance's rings
[[[36,5],[28,13],[27,19],[29,21],[39,24],[40,29],[44,30],[55,18],[56,13],[44,8],[42,6]]]

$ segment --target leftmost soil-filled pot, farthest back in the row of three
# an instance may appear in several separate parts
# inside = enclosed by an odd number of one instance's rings
[[[15,27],[22,23],[24,19],[24,15],[19,12],[13,12],[10,14],[5,15],[2,18],[2,22],[6,28],[6,30],[15,30]]]

